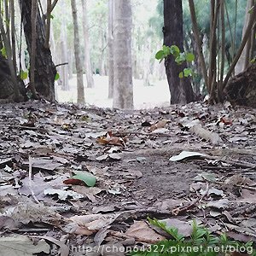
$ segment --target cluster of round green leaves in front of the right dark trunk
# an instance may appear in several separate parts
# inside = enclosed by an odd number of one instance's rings
[[[195,55],[193,55],[192,53],[181,52],[177,45],[172,45],[171,47],[163,45],[163,48],[155,54],[155,59],[161,62],[169,55],[173,55],[177,65],[183,64],[184,61],[195,61]],[[178,74],[178,77],[180,79],[183,79],[184,77],[188,78],[189,76],[193,76],[194,74],[195,73],[191,68],[184,68],[183,71]]]

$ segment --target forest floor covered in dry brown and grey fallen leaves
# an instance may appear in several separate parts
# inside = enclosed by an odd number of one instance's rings
[[[1,256],[125,255],[167,237],[148,217],[256,240],[255,109],[0,109]]]

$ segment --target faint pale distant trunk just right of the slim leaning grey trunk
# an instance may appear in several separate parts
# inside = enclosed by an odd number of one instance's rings
[[[89,32],[88,32],[88,22],[87,22],[87,0],[82,1],[82,9],[83,9],[83,31],[84,31],[84,64],[85,64],[85,73],[87,80],[87,87],[94,87],[94,80],[92,77],[92,69],[90,65],[90,40],[89,40]]]

